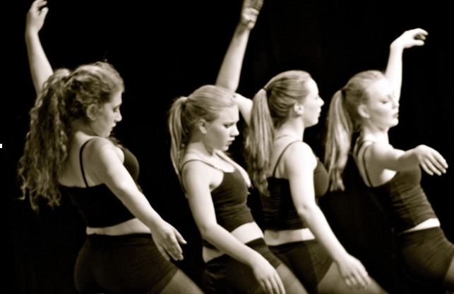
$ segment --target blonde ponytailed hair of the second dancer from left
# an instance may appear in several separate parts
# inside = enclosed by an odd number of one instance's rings
[[[222,87],[204,85],[188,97],[177,98],[169,110],[169,133],[171,137],[170,159],[181,183],[180,165],[184,149],[191,139],[197,121],[203,118],[215,121],[220,111],[235,105],[234,93]]]

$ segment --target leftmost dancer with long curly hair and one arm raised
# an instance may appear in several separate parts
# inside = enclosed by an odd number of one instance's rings
[[[121,121],[123,80],[104,62],[54,72],[38,37],[46,4],[33,2],[25,30],[37,99],[19,163],[23,196],[38,210],[40,198],[58,206],[64,190],[85,219],[79,293],[203,293],[169,262],[183,259],[186,241],[141,192],[136,157],[109,140]]]

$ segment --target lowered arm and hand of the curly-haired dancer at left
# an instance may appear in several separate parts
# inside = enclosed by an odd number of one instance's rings
[[[87,173],[107,185],[124,206],[140,221],[150,228],[153,241],[161,254],[169,260],[183,259],[183,251],[179,243],[186,244],[176,228],[164,221],[145,195],[138,190],[136,183],[119,158],[118,147],[105,138],[99,138],[87,146],[90,150],[86,165]]]

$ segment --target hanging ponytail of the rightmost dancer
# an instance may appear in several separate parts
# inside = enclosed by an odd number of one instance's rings
[[[325,165],[330,178],[330,190],[344,190],[342,172],[347,164],[352,142],[352,120],[345,111],[342,93],[335,92],[328,111],[328,135],[325,144]]]

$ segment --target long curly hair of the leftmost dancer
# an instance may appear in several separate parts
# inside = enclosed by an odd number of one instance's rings
[[[18,163],[23,199],[29,195],[32,209],[39,197],[50,207],[61,200],[59,176],[68,158],[71,121],[85,119],[88,106],[109,102],[124,90],[123,79],[105,62],[58,69],[44,83],[42,94],[30,110],[30,131]]]

